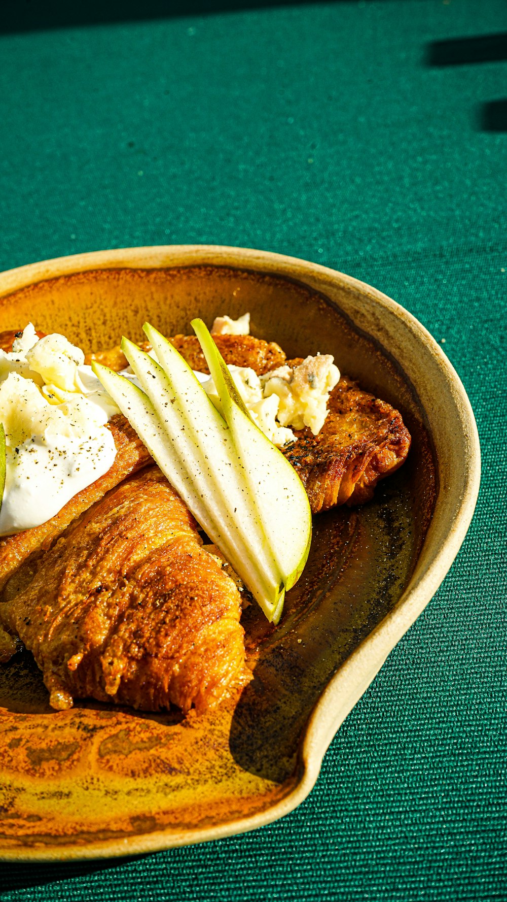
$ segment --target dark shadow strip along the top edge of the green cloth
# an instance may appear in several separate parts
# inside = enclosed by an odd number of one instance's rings
[[[3,0],[0,4],[0,34],[149,22],[173,16],[235,13],[276,6],[308,6],[320,2],[321,0],[144,0],[144,3],[140,3],[139,0],[46,0],[45,3],[40,3],[39,0]],[[328,0],[329,2],[358,4],[358,0]]]

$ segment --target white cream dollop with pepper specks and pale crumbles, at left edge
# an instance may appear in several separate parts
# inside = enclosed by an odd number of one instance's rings
[[[0,536],[39,526],[107,473],[116,447],[113,400],[65,336],[39,339],[32,324],[0,350],[5,491]]]

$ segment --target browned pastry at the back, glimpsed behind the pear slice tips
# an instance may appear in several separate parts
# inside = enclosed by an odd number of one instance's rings
[[[275,342],[267,342],[262,338],[254,338],[254,336],[223,335],[213,336],[213,339],[226,364],[250,366],[258,375],[285,364],[285,354]],[[210,372],[197,336],[174,336],[174,338],[169,338],[169,341],[177,348],[182,357],[185,357],[186,363],[190,364],[193,370],[197,370],[199,373]],[[139,346],[143,351],[149,351],[151,347],[146,342],[141,342]],[[87,354],[85,363],[91,364],[92,360],[109,366],[117,373],[128,366],[119,345],[108,351]]]

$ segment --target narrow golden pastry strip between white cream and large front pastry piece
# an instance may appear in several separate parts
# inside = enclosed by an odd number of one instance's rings
[[[41,526],[0,538],[0,590],[27,557],[33,552],[50,548],[54,539],[67,529],[72,520],[87,511],[105,492],[109,492],[128,475],[152,463],[148,448],[142,444],[140,437],[122,414],[117,414],[109,421],[109,428],[113,433],[117,454],[107,473],[74,495],[61,511],[41,523]]]

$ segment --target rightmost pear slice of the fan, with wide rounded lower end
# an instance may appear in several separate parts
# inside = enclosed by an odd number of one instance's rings
[[[269,547],[290,589],[303,573],[312,540],[312,511],[299,476],[255,425],[246,410],[227,364],[202,319],[192,326],[231,429],[236,451],[249,475]]]

